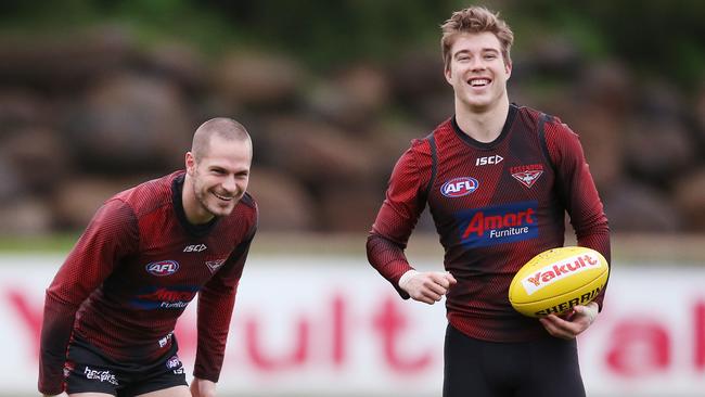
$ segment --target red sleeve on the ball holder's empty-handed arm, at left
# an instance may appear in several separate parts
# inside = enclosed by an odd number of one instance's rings
[[[428,167],[420,165],[424,141],[414,141],[399,158],[392,171],[386,196],[368,236],[368,260],[382,277],[408,299],[409,294],[399,287],[399,279],[413,269],[403,251],[426,203],[424,195],[430,179]]]

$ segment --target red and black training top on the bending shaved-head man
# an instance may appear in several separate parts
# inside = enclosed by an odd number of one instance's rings
[[[117,361],[146,363],[165,354],[196,293],[194,376],[218,381],[257,205],[245,194],[229,216],[190,225],[183,179],[184,171],[177,171],[116,194],[68,254],[47,290],[41,393],[63,390],[73,335]]]

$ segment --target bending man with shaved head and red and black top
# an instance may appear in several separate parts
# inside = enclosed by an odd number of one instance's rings
[[[198,127],[185,170],[98,210],[47,290],[44,396],[214,397],[235,292],[257,228],[253,146],[230,118]],[[189,389],[174,329],[198,295]]]

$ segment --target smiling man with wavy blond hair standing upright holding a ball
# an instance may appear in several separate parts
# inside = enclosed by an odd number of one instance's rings
[[[513,40],[480,7],[443,25],[454,115],[399,158],[368,238],[370,262],[401,297],[447,297],[445,397],[585,396],[575,338],[603,302],[604,291],[566,318],[540,320],[509,303],[516,271],[563,246],[566,213],[578,245],[610,258],[607,219],[577,135],[509,101]],[[405,256],[426,205],[446,271],[416,271]]]

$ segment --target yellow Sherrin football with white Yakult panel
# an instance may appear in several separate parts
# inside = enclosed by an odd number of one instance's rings
[[[594,249],[566,246],[542,252],[514,276],[509,302],[516,311],[544,317],[587,305],[604,289],[607,260]]]

